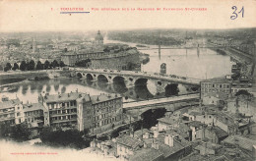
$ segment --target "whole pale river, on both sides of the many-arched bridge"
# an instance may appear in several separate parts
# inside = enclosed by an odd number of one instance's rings
[[[105,43],[126,43],[120,41],[106,40]],[[126,43],[130,46],[136,46],[135,43]],[[156,48],[154,45],[147,45],[149,48]],[[164,46],[166,47],[166,46]],[[144,49],[140,47],[138,49]],[[159,56],[158,49],[140,50],[142,53],[150,55],[150,62],[142,65],[143,72],[160,73],[160,65],[166,64],[166,74],[177,75],[194,79],[211,79],[223,77],[231,74],[229,56],[219,55],[210,49],[162,49]],[[91,95],[100,93],[118,92],[124,96],[124,101],[145,100],[164,96],[164,93],[158,95],[157,87],[154,82],[148,81],[146,85],[127,88],[124,83],[102,83],[97,81],[74,79],[54,79],[54,80],[32,80],[15,85],[16,89],[9,92],[0,93],[0,96],[8,96],[10,99],[19,97],[24,102],[37,102],[40,93],[49,92],[57,94],[58,92],[87,92]],[[186,88],[178,85],[179,94],[185,94]]]

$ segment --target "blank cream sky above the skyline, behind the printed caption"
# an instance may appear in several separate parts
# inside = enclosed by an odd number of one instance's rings
[[[238,14],[231,20],[232,6]],[[83,8],[88,14],[60,14],[61,8]],[[92,10],[98,8],[98,11]],[[121,11],[101,11],[119,8]],[[122,11],[129,8],[130,11]],[[131,11],[131,9],[135,11]],[[154,8],[155,11],[138,11]],[[157,11],[160,8],[160,11]],[[179,8],[183,11],[163,11]],[[206,11],[185,11],[205,8]],[[256,0],[95,0],[95,1],[7,1],[0,0],[0,32],[5,31],[87,31],[135,28],[237,28],[256,27]]]

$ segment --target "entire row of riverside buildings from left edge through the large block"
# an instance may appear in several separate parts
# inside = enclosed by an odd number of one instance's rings
[[[25,122],[30,128],[88,129],[91,134],[100,134],[122,125],[122,107],[122,97],[118,94],[46,93],[38,97],[38,103],[27,104],[18,98],[8,100],[4,97],[0,102],[0,123]]]

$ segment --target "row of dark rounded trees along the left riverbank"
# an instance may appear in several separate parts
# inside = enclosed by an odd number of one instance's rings
[[[36,65],[35,65],[35,62],[33,60],[31,60],[30,62],[22,61],[20,66],[17,63],[14,63],[13,66],[10,63],[7,63],[6,66],[4,67],[4,69],[2,67],[0,67],[0,69],[7,72],[10,70],[13,70],[13,71],[16,71],[16,70],[21,70],[21,71],[47,70],[47,69],[52,69],[52,68],[56,68],[56,67],[65,67],[65,64],[62,61],[60,61],[60,63],[58,63],[56,60],[54,60],[51,63],[49,61],[45,61],[44,64],[42,64],[40,61],[37,61]]]

